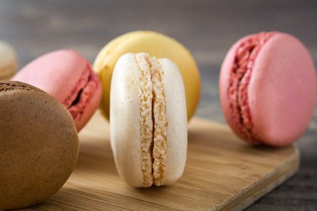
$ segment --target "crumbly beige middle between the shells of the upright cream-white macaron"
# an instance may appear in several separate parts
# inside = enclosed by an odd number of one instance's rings
[[[143,187],[164,184],[167,150],[164,72],[159,60],[135,54],[140,79],[140,140]]]

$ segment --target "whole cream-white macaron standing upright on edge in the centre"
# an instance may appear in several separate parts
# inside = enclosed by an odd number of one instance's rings
[[[132,187],[171,185],[183,174],[187,112],[182,76],[170,59],[127,53],[113,69],[110,143]]]

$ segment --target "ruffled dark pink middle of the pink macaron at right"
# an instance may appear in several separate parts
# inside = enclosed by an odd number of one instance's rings
[[[256,134],[252,133],[253,123],[248,102],[248,86],[252,74],[254,61],[266,41],[275,32],[260,32],[249,36],[237,48],[235,59],[230,71],[229,87],[229,108],[237,130],[249,142],[260,144]]]

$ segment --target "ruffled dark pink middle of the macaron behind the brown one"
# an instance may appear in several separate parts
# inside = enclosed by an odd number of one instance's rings
[[[86,106],[97,90],[98,80],[97,74],[92,71],[90,64],[87,64],[81,79],[76,82],[70,95],[62,102],[74,120],[81,119]]]

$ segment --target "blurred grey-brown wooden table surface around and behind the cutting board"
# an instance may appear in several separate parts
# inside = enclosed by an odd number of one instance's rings
[[[279,30],[297,36],[317,62],[317,1],[9,1],[0,0],[0,39],[12,44],[19,67],[49,51],[70,48],[91,62],[112,38],[134,30],[175,37],[193,54],[202,76],[196,116],[225,123],[219,69],[240,37]],[[316,110],[317,111],[317,110]],[[316,210],[317,116],[296,146],[300,168],[246,210]]]

